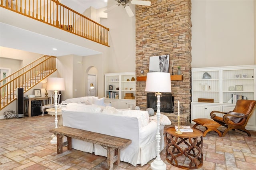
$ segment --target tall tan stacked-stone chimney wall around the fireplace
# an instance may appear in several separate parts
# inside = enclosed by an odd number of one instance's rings
[[[183,107],[181,124],[191,117],[191,0],[151,0],[136,6],[136,77],[149,71],[150,56],[170,54],[170,73],[181,66],[183,81],[172,81],[174,105]],[[146,109],[146,81],[136,81],[136,105]],[[160,103],[161,104],[161,103]],[[186,115],[186,116],[185,116]],[[172,123],[176,124],[177,118]]]

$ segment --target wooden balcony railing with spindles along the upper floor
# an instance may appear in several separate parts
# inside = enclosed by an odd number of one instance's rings
[[[108,31],[58,0],[0,0],[0,6],[88,40],[108,45]]]

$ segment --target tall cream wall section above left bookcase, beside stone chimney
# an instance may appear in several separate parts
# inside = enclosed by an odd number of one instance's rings
[[[108,8],[116,1],[108,1]],[[130,5],[135,14],[135,5]],[[109,30],[110,55],[108,73],[135,71],[135,16],[128,17],[123,6],[118,6],[108,12],[107,23],[103,24]]]

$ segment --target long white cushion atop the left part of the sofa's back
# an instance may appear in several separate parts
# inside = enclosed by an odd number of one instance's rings
[[[95,107],[92,105],[84,105],[82,103],[68,103],[66,106],[67,109],[72,109],[77,112],[101,112],[100,107]]]

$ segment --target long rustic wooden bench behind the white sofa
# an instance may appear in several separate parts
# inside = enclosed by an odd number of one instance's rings
[[[107,134],[100,134],[71,127],[62,126],[50,129],[49,131],[55,134],[57,137],[57,154],[61,154],[63,152],[63,136],[66,136],[68,139],[68,150],[72,149],[71,138],[100,144],[107,150],[108,170],[113,169],[114,162],[117,162],[117,165],[120,163],[120,149],[132,143],[132,140],[130,139],[119,138],[116,136],[110,136]]]

